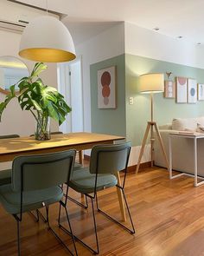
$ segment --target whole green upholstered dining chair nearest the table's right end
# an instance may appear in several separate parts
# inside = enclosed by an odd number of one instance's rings
[[[113,220],[119,226],[122,226],[125,230],[130,233],[135,233],[135,228],[131,219],[131,213],[127,204],[127,200],[124,194],[124,183],[126,178],[127,166],[129,161],[129,156],[131,152],[131,143],[125,142],[116,145],[99,145],[92,148],[90,167],[82,168],[73,172],[71,180],[69,182],[69,187],[72,187],[75,191],[85,194],[92,202],[92,217],[94,223],[95,239],[97,249],[93,249],[88,246],[84,241],[80,240],[78,237],[74,236],[76,240],[80,241],[86,248],[88,248],[92,253],[99,253],[99,242],[97,236],[97,226],[94,214],[93,200],[96,200],[96,205],[99,213],[103,213],[105,217]],[[122,185],[118,185],[117,174],[118,171],[124,171],[124,181]],[[115,220],[110,215],[105,213],[99,208],[99,203],[97,200],[97,192],[104,190],[108,187],[117,186],[121,189],[124,196],[124,203],[127,207],[127,212],[131,220],[131,229],[124,226],[118,220]],[[60,214],[59,214],[60,217]],[[59,226],[62,230],[69,233],[65,226],[61,225],[61,219],[59,218]]]

